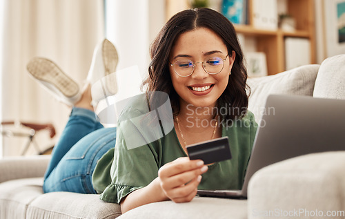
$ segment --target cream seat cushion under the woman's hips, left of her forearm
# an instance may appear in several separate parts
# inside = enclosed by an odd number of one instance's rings
[[[103,202],[99,195],[71,192],[45,193],[33,200],[27,218],[117,218],[119,204]]]

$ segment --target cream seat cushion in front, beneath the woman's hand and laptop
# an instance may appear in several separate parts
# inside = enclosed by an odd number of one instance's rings
[[[119,216],[121,219],[247,218],[247,200],[196,197],[191,202],[155,202]]]

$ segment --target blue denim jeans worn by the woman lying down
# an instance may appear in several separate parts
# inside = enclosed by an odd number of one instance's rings
[[[73,108],[44,176],[43,191],[96,193],[92,173],[97,161],[115,146],[116,128],[104,128],[95,113]]]

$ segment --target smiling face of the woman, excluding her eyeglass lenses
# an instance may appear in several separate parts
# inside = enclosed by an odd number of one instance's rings
[[[216,75],[206,73],[201,63],[195,64],[194,72],[180,77],[170,65],[172,85],[179,95],[181,107],[192,104],[195,107],[214,107],[217,99],[228,85],[235,52],[228,56],[228,49],[222,39],[208,28],[197,28],[179,35],[170,53],[170,63],[189,59],[193,62],[206,61],[212,57],[226,59],[224,68]]]

